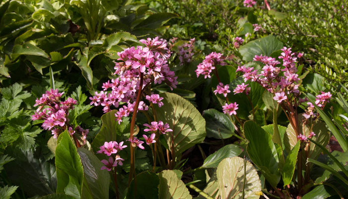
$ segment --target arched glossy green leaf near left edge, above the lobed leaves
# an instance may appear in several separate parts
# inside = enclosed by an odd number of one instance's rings
[[[45,51],[30,43],[15,45],[13,47],[12,53],[12,59],[17,58],[19,55],[36,55],[49,59],[49,56]]]

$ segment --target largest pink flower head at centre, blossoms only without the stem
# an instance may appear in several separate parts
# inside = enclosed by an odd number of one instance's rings
[[[140,42],[146,47],[130,47],[117,53],[120,62],[115,62],[114,75],[118,75],[118,78],[103,83],[103,91],[96,92],[89,98],[90,104],[104,106],[104,112],[111,111],[111,106],[118,108],[120,103],[127,103],[115,114],[119,123],[122,117],[128,116],[133,111],[138,90],[144,89],[151,83],[165,82],[171,89],[177,85],[177,77],[174,77],[174,72],[167,64],[171,56],[167,41],[156,37],[142,39]],[[144,77],[143,85],[140,85],[141,75]],[[111,91],[108,91],[109,89]],[[139,110],[147,109],[145,102],[140,101]]]

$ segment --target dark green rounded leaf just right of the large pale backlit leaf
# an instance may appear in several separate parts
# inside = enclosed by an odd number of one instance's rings
[[[226,139],[235,134],[235,127],[226,114],[211,108],[204,110],[202,116],[205,119],[207,137]]]

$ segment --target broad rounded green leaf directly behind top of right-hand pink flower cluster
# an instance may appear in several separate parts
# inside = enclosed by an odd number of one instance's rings
[[[255,39],[239,48],[239,52],[245,61],[253,61],[255,55],[270,56],[274,51],[280,50],[283,44],[273,35],[261,39]]]

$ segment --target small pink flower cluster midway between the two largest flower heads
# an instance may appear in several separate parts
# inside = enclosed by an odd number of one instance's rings
[[[215,69],[215,66],[217,65],[225,65],[221,53],[212,52],[209,55],[205,56],[203,62],[198,64],[197,69],[195,70],[197,78],[199,77],[199,75],[204,75],[204,79],[211,78],[210,73]]]

